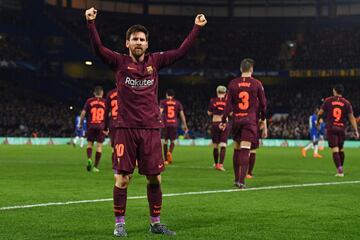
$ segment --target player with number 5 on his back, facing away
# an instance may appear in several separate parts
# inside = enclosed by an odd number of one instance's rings
[[[163,128],[164,137],[164,159],[165,164],[171,164],[173,161],[172,152],[175,148],[175,139],[177,138],[178,120],[177,116],[180,115],[182,127],[185,134],[189,131],[184,108],[182,104],[175,99],[175,92],[172,89],[166,91],[166,99],[160,101],[160,114],[163,116],[165,127]],[[168,144],[170,139],[170,149],[168,151]]]

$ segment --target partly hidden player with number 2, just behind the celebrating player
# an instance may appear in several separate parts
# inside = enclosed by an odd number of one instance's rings
[[[105,129],[108,130],[110,137],[111,147],[114,147],[114,132],[115,124],[118,114],[118,95],[117,89],[112,89],[106,94],[106,126]],[[116,161],[114,157],[114,149],[112,149],[111,159],[113,163],[113,168],[116,166]]]

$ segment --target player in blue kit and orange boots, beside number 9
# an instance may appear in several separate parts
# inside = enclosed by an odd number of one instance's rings
[[[301,154],[303,157],[306,157],[306,151],[310,148],[314,148],[314,158],[322,158],[323,156],[319,154],[319,129],[317,126],[317,112],[318,108],[315,108],[314,113],[309,117],[309,133],[311,142],[304,148],[301,149]]]

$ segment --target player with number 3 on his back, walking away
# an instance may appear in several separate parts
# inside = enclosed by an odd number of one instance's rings
[[[234,139],[234,166],[239,166],[239,181],[236,186],[246,189],[245,177],[249,168],[251,142],[258,131],[257,115],[261,122],[266,116],[266,97],[264,88],[259,80],[252,77],[254,60],[245,58],[241,61],[241,77],[233,79],[228,86],[228,96],[225,112],[222,116],[221,129],[227,127],[227,117],[232,109]],[[262,137],[265,137],[263,135]],[[236,171],[234,170],[236,173]]]

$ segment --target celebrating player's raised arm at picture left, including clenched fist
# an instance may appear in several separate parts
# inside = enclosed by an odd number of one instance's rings
[[[100,57],[105,64],[109,65],[112,69],[116,69],[118,65],[118,57],[120,54],[111,51],[102,44],[95,26],[96,15],[97,10],[93,7],[85,11],[85,18],[87,20],[91,46],[95,54]]]

